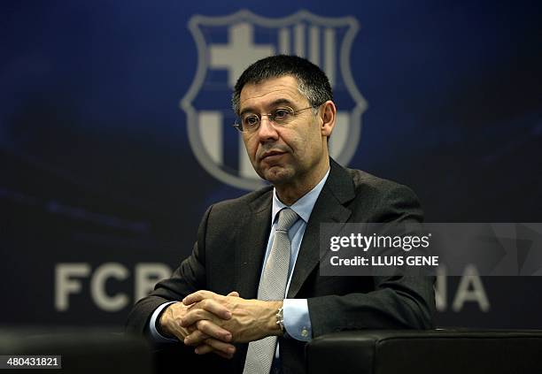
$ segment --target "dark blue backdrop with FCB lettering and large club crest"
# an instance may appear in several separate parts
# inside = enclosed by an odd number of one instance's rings
[[[428,222],[539,222],[536,1],[3,1],[0,326],[122,329],[213,202],[260,182],[232,82],[287,52],[329,74],[342,164]],[[540,248],[538,248],[539,250]],[[542,279],[437,281],[437,324],[542,328]]]

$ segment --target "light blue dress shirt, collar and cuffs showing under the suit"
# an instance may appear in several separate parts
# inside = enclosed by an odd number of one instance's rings
[[[324,184],[326,183],[328,176],[329,170],[328,172],[326,172],[326,175],[324,175],[321,181],[311,191],[301,197],[297,202],[294,202],[292,205],[290,205],[290,209],[295,211],[300,219],[298,219],[298,221],[290,227],[290,231],[288,232],[291,243],[291,254],[290,267],[288,269],[288,284],[286,286],[286,294],[288,294],[288,289],[290,288],[291,274],[296,264],[296,260],[298,259],[299,248],[301,247],[301,240],[303,240],[303,235],[305,234],[306,224],[311,217],[314,204],[316,203],[318,196],[320,196],[321,188],[323,188]],[[269,253],[271,252],[271,248],[273,247],[273,238],[275,237],[275,227],[277,224],[276,221],[278,219],[277,215],[284,208],[288,208],[288,206],[283,204],[283,202],[278,199],[276,195],[276,190],[274,189],[273,207],[271,210],[271,232],[269,233],[269,239],[267,240],[266,256],[264,257],[262,272],[263,269],[265,269],[267,258],[269,257]],[[319,249],[314,248],[314,250]],[[168,339],[160,335],[160,333],[156,329],[156,319],[159,317],[160,312],[162,311],[162,309],[166,308],[167,305],[174,302],[176,301],[165,302],[152,313],[151,321],[149,323],[149,329],[152,338],[154,338],[154,340],[156,340],[157,342],[177,341],[176,339]],[[283,317],[284,328],[290,337],[302,341],[309,341],[312,339],[313,331],[306,299],[284,299]]]

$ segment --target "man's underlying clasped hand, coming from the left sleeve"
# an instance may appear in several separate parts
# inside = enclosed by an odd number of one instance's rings
[[[237,295],[237,293],[232,294]],[[159,318],[160,331],[167,337],[176,337],[178,340],[184,342],[185,338],[190,335],[190,332],[197,330],[195,325],[181,325],[182,318],[185,317],[192,308],[194,308],[194,305],[186,306],[182,302],[175,302],[174,304],[168,305]],[[228,309],[225,309],[221,305],[216,305],[216,308],[212,307],[211,309],[213,309],[213,313],[216,313],[216,315],[221,318],[228,319],[231,317],[231,313],[229,313]],[[224,358],[232,358],[236,352],[236,347],[228,344],[228,341],[231,340],[231,333],[219,327],[215,329],[214,334],[218,339],[214,339],[208,335],[201,336],[201,341],[198,345],[199,347],[196,348],[196,353],[198,355],[204,355],[213,352]]]

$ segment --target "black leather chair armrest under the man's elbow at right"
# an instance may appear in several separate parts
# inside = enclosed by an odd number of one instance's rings
[[[337,332],[306,346],[309,374],[542,373],[542,330]]]

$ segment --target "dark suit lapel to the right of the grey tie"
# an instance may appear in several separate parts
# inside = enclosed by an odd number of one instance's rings
[[[329,161],[329,177],[306,225],[287,298],[294,298],[298,294],[306,278],[320,261],[320,224],[345,223],[352,214],[352,211],[344,206],[345,202],[351,201],[355,196],[352,177],[333,159]]]

